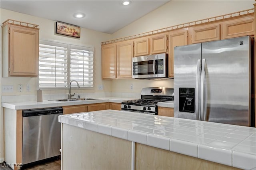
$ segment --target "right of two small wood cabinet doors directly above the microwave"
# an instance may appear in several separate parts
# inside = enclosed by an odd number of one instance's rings
[[[167,35],[158,35],[152,36],[149,39],[150,42],[150,54],[160,54],[166,53],[168,46],[167,46]]]

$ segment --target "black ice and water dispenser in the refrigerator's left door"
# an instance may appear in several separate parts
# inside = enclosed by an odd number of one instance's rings
[[[195,88],[179,88],[179,111],[195,112]]]

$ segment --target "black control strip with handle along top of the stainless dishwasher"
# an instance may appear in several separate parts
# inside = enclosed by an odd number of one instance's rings
[[[28,109],[28,110],[22,111],[22,117],[41,116],[41,115],[47,115],[47,114],[62,114],[62,113],[63,113],[62,107]]]

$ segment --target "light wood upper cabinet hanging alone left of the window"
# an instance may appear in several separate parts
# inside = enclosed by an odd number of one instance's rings
[[[39,29],[5,22],[2,26],[3,77],[38,76]]]

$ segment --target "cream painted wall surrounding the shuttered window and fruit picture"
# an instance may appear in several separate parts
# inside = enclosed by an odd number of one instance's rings
[[[81,37],[72,38],[68,36],[62,36],[59,34],[54,34],[55,21],[47,20],[44,18],[39,18],[35,16],[30,16],[26,14],[21,14],[18,12],[13,12],[10,10],[1,9],[1,23],[7,19],[18,20],[22,22],[29,22],[33,24],[38,24],[40,28],[39,39],[40,40],[50,40],[56,42],[63,42],[68,44],[75,44],[80,46],[92,46],[94,47],[94,86],[92,90],[72,90],[73,92],[102,92],[102,90],[97,90],[98,84],[103,84],[103,91],[110,91],[111,81],[102,81],[101,80],[101,42],[104,40],[111,39],[110,34],[105,34],[102,32],[97,32],[85,28],[81,28]],[[12,93],[2,93],[2,96],[11,96],[11,95],[28,95],[36,94],[36,82],[37,78],[24,78],[24,77],[1,77],[1,86],[2,85],[13,85]],[[23,85],[23,91],[18,92],[18,84]],[[30,85],[30,91],[26,91],[26,85]],[[44,90],[44,94],[52,93],[68,93],[68,90]]]

